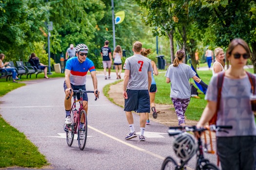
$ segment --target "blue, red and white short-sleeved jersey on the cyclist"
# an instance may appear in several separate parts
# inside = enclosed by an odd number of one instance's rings
[[[80,63],[78,57],[68,59],[65,69],[71,71],[70,83],[72,85],[85,85],[88,70],[90,72],[96,71],[92,60],[86,58],[84,62]]]

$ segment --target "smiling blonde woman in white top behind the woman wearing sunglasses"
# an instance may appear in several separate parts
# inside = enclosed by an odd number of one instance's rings
[[[224,72],[224,67],[222,66],[223,60],[225,59],[224,51],[220,47],[214,50],[215,62],[213,64],[213,75],[217,75],[219,72]]]

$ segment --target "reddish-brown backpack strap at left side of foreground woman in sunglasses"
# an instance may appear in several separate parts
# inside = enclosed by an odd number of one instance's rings
[[[219,104],[220,104],[220,98],[221,98],[221,89],[222,89],[224,76],[225,76],[225,72],[220,72],[217,75],[217,109],[216,109],[216,112],[215,112],[213,118],[209,121],[209,125],[216,124],[216,121],[217,121],[217,113],[218,113],[218,110],[219,110]]]

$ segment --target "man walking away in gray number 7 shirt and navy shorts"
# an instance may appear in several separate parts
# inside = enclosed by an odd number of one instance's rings
[[[145,141],[144,131],[146,126],[146,112],[150,112],[149,89],[151,85],[151,61],[140,54],[142,43],[136,41],[133,44],[134,55],[125,60],[123,69],[123,97],[124,111],[129,123],[130,133],[126,140],[137,137],[134,128],[132,111],[140,115],[139,141]]]

